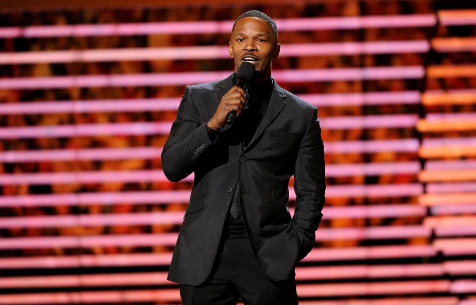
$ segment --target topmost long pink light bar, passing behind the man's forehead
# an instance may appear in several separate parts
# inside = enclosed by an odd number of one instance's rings
[[[433,14],[276,19],[280,31],[432,26]],[[181,21],[9,27],[0,37],[129,36],[149,34],[230,33],[233,21]]]

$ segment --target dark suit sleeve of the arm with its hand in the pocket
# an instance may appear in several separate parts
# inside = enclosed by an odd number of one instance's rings
[[[314,109],[299,145],[294,173],[296,208],[292,222],[302,246],[298,260],[306,256],[315,244],[325,188],[324,145],[317,109]]]

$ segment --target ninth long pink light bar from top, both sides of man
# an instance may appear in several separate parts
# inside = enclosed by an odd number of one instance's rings
[[[188,200],[187,200],[188,201]],[[294,208],[290,208],[291,215]],[[61,227],[96,227],[114,225],[180,225],[184,211],[180,212],[147,212],[94,215],[54,215],[27,217],[0,217],[0,228],[61,228]],[[426,210],[419,205],[375,205],[326,207],[324,219],[339,218],[371,218],[424,216]]]

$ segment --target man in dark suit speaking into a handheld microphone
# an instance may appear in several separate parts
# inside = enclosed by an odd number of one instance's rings
[[[295,265],[322,217],[324,152],[317,109],[271,78],[279,51],[272,19],[242,14],[229,52],[235,72],[255,65],[249,88],[234,86],[234,73],[187,86],[180,102],[162,163],[171,181],[195,175],[168,277],[180,283],[183,304],[297,304]]]

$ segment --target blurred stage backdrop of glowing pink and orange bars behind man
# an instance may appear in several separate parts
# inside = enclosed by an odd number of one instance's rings
[[[231,73],[233,21],[259,9],[273,77],[318,107],[325,144],[300,304],[475,305],[475,4],[2,1],[0,304],[180,304],[192,177],[168,182],[161,149],[185,85]]]

